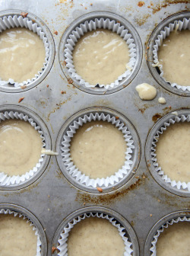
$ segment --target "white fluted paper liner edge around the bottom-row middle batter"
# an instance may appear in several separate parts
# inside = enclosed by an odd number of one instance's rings
[[[69,222],[68,225],[63,229],[63,232],[60,234],[60,238],[58,240],[59,246],[57,247],[59,249],[59,256],[68,256],[68,235],[71,229],[75,224],[78,222],[81,222],[81,220],[89,217],[97,217],[97,218],[103,218],[107,219],[110,223],[112,223],[112,226],[116,226],[116,228],[119,231],[119,235],[121,235],[122,240],[124,241],[125,244],[125,252],[124,256],[130,256],[132,255],[133,249],[132,249],[132,243],[128,241],[128,238],[125,236],[125,231],[124,227],[122,227],[120,224],[116,223],[116,219],[114,219],[111,216],[108,216],[104,213],[84,213],[82,216],[78,216],[73,221]]]

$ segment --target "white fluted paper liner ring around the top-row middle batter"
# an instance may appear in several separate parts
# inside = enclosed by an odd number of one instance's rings
[[[78,27],[76,27],[75,30],[71,32],[69,39],[65,44],[65,62],[67,63],[66,66],[71,78],[76,78],[81,86],[94,88],[96,85],[90,85],[88,82],[85,82],[80,75],[77,74],[76,70],[74,69],[72,52],[79,38],[81,38],[88,31],[96,30],[99,28],[112,30],[112,32],[119,34],[128,44],[128,51],[130,56],[130,60],[127,64],[130,69],[127,69],[125,73],[119,75],[116,81],[112,82],[110,85],[99,84],[100,88],[106,88],[106,90],[109,90],[118,87],[119,82],[121,82],[123,78],[127,78],[129,75],[131,75],[131,71],[134,69],[136,62],[137,54],[134,39],[132,38],[131,34],[128,33],[128,30],[124,26],[121,26],[121,24],[116,23],[114,20],[109,20],[109,18],[95,18],[94,21],[85,21],[84,24],[80,24]]]

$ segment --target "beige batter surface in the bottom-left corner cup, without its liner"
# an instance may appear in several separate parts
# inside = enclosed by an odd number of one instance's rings
[[[0,256],[36,256],[37,236],[26,219],[0,214]]]

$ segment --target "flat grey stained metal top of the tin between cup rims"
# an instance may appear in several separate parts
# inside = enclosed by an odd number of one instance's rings
[[[138,237],[140,255],[144,254],[148,232],[160,218],[175,211],[190,210],[190,198],[179,197],[157,184],[148,171],[144,158],[147,135],[154,126],[156,117],[190,107],[188,97],[166,91],[155,82],[145,58],[147,40],[157,24],[171,14],[190,9],[187,2],[174,2],[154,0],[154,4],[151,5],[152,2],[145,1],[145,5],[140,7],[137,0],[0,0],[1,11],[21,9],[36,14],[49,27],[55,41],[55,61],[43,82],[36,88],[23,92],[0,91],[1,106],[21,105],[38,114],[49,129],[52,150],[55,150],[56,138],[65,120],[86,107],[109,107],[119,111],[133,123],[141,140],[141,162],[135,176],[112,192],[90,194],[74,187],[60,171],[55,156],[50,158],[46,171],[30,186],[21,190],[0,191],[0,203],[22,206],[39,219],[46,232],[49,256],[53,236],[62,220],[87,206],[103,206],[127,219]],[[62,34],[74,19],[90,11],[112,11],[122,15],[135,26],[141,37],[143,60],[138,75],[130,85],[112,94],[96,95],[80,91],[68,84],[59,65],[58,51]],[[55,30],[58,31],[57,35],[54,34]],[[157,98],[153,101],[141,101],[138,98],[135,86],[142,82],[157,88]],[[46,85],[49,85],[49,88]],[[61,94],[61,91],[66,91],[66,94]],[[157,99],[160,96],[166,98],[165,105],[158,104]],[[24,97],[24,101],[18,104],[21,97]],[[139,178],[135,178],[138,176]]]

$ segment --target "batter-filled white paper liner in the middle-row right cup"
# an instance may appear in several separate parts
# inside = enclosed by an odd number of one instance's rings
[[[176,117],[169,118],[169,120],[165,121],[163,123],[163,126],[161,126],[161,128],[157,131],[156,135],[154,136],[154,140],[152,142],[152,147],[151,147],[151,156],[152,156],[151,160],[153,162],[155,171],[157,171],[157,174],[159,174],[160,177],[163,179],[163,181],[165,181],[171,187],[175,187],[179,190],[185,190],[185,191],[190,191],[189,168],[188,168],[189,161],[188,161],[188,152],[187,152],[188,149],[187,148],[185,149],[185,146],[188,147],[188,139],[187,137],[185,137],[185,134],[188,136],[189,129],[188,130],[186,129],[183,135],[179,129],[180,129],[180,126],[184,126],[184,127],[190,126],[189,122],[190,122],[190,115],[182,114],[180,116],[178,115]],[[176,131],[174,130],[175,126],[179,128]],[[172,135],[172,138],[168,137],[167,138],[168,140],[166,141],[164,140],[164,137],[165,137],[164,134],[167,135],[167,130],[171,130],[170,135]],[[169,144],[172,144],[172,146],[171,146],[171,149],[168,149],[168,148],[166,149],[165,156],[163,158],[162,158],[162,154],[164,155],[164,153],[162,152],[161,148],[158,149],[159,158],[157,159],[157,145],[159,144],[159,140],[162,136],[163,136],[163,139],[161,140],[161,142],[163,144],[163,152],[165,152],[164,150],[169,146]],[[176,140],[178,142],[176,142]],[[166,148],[164,146],[165,143],[166,143],[165,145]],[[172,159],[173,155],[175,159]],[[164,168],[166,168],[166,172]],[[176,172],[174,173],[175,170]]]

